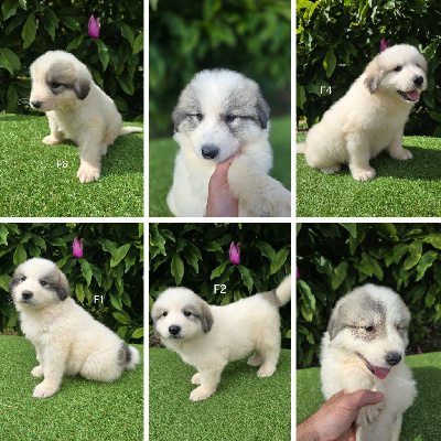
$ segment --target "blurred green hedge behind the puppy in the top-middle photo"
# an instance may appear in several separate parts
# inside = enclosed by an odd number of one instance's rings
[[[256,80],[273,115],[290,112],[291,2],[150,0],[150,135],[171,136],[178,96],[203,68]]]

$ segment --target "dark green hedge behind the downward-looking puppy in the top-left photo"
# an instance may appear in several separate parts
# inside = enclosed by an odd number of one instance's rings
[[[99,39],[88,35],[101,17]],[[29,66],[46,51],[72,52],[112,97],[125,119],[143,115],[141,0],[4,0],[0,14],[0,111],[29,112]],[[136,94],[137,93],[137,94]]]

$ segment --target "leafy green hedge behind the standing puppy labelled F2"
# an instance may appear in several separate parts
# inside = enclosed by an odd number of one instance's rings
[[[229,245],[240,243],[240,265]],[[151,224],[150,310],[169,287],[192,289],[211,304],[228,304],[275,289],[291,272],[290,224]],[[214,284],[226,284],[226,293]],[[282,346],[290,347],[290,303],[281,309]]]

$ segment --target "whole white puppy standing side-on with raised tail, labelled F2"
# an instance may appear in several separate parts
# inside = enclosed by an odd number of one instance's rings
[[[248,359],[260,366],[257,375],[276,372],[280,354],[279,306],[291,298],[291,277],[273,291],[259,293],[226,306],[207,304],[187,288],[169,288],[154,302],[154,332],[162,343],[194,366],[192,384],[200,385],[190,395],[198,401],[216,391],[228,362]]]

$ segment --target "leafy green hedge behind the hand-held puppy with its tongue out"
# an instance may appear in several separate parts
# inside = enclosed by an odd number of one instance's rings
[[[410,309],[409,348],[441,349],[441,225],[298,224],[297,361],[316,365],[336,300],[364,283]]]

